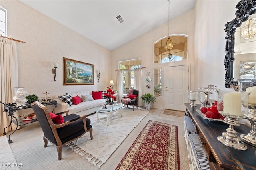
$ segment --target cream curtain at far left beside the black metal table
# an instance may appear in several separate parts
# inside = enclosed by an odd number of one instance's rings
[[[0,75],[1,75],[1,98],[2,103],[13,102],[14,87],[18,87],[18,59],[16,42],[0,37]],[[8,112],[4,112],[4,105],[0,103],[0,136],[4,133],[4,128],[10,124]],[[9,132],[11,127],[5,129]]]

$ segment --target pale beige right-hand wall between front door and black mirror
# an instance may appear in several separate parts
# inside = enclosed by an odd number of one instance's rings
[[[238,0],[196,2],[194,87],[213,84],[225,89],[224,29],[225,24],[235,18],[236,4]],[[216,96],[216,93],[212,95],[215,99]]]

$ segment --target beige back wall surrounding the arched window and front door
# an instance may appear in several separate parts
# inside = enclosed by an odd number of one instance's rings
[[[154,64],[154,51],[153,45],[156,41],[168,35],[168,22],[162,26],[147,32],[146,34],[132,40],[121,47],[112,51],[112,60],[115,69],[118,69],[118,61],[124,61],[128,59],[141,59],[141,67],[151,69],[150,77],[153,79],[153,69],[162,68],[162,89],[164,89],[164,68],[176,65],[190,65],[194,62],[194,10],[175,18],[170,21],[170,35],[172,34],[186,34],[188,35],[188,60],[172,62],[172,63],[156,63]],[[194,69],[191,68],[193,71]],[[190,72],[192,73],[192,72]],[[189,73],[189,74],[190,74]],[[115,79],[116,71],[112,71],[112,78]],[[153,81],[151,82],[152,87],[148,89],[146,87],[146,74],[145,69],[142,70],[142,94],[154,93]],[[154,107],[164,108],[164,91],[162,91],[162,97],[156,97],[156,103]]]

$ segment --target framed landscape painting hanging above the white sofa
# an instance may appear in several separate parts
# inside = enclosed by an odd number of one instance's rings
[[[94,85],[94,65],[63,57],[63,85]]]

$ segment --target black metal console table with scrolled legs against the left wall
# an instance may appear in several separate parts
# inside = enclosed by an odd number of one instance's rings
[[[56,100],[48,100],[48,101],[41,100],[39,102],[44,106],[53,105],[54,109],[55,109],[55,107],[57,107],[57,101]],[[2,102],[0,101],[0,103],[2,103]],[[24,106],[17,106],[16,103],[8,103],[8,104],[2,103],[2,104],[4,105],[4,112],[8,112],[8,116],[10,116],[10,119],[11,119],[10,125],[12,124],[12,122],[16,125],[16,129],[14,130],[14,132],[16,132],[18,126],[26,125],[28,123],[32,123],[32,122],[37,121],[37,119],[34,119],[32,121],[25,121],[24,122],[24,121],[22,121],[21,116],[17,117],[17,116],[14,115],[14,113],[16,111],[19,111],[19,110],[22,110],[22,109],[32,108],[30,103],[26,103]],[[53,112],[53,110],[52,110],[52,112]],[[8,128],[10,125],[8,125],[6,128]],[[4,135],[6,135],[6,133],[5,133],[6,128],[4,128],[4,133],[3,133]],[[14,134],[14,132],[12,132],[12,134]],[[10,136],[11,136],[11,134],[9,135],[8,142],[12,143],[12,140],[10,139]]]

